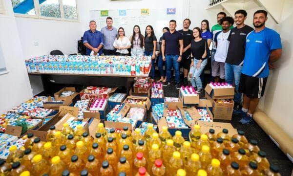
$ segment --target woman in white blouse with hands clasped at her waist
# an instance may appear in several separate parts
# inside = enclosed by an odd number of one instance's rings
[[[118,35],[113,44],[116,50],[116,55],[118,56],[127,56],[128,55],[128,48],[131,47],[131,43],[129,39],[125,36],[125,31],[123,27],[118,29]]]

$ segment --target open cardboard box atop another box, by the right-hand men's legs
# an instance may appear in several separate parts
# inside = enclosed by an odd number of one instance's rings
[[[207,84],[205,91],[206,97],[209,99],[233,99],[235,88],[211,88]],[[207,96],[209,95],[209,96]]]

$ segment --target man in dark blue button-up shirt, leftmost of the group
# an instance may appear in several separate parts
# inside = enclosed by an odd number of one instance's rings
[[[83,43],[86,47],[86,55],[90,55],[92,51],[94,51],[94,55],[97,55],[97,53],[102,54],[103,35],[100,31],[97,31],[95,21],[89,22],[89,30],[84,32]]]

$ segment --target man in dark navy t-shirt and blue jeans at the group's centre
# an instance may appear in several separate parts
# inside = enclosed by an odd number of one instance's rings
[[[162,38],[162,59],[163,61],[166,61],[167,64],[167,81],[163,86],[168,86],[170,84],[171,68],[173,66],[175,71],[176,88],[180,89],[179,66],[183,53],[183,35],[176,31],[175,20],[169,22],[169,29],[170,31],[165,32]]]

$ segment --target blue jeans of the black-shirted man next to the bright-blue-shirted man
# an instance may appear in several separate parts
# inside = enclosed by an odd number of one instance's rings
[[[225,63],[225,79],[229,84],[233,84],[233,80],[235,82],[236,93],[234,96],[234,102],[241,103],[241,93],[238,92],[239,83],[240,83],[240,75],[241,75],[242,66],[231,65]]]

